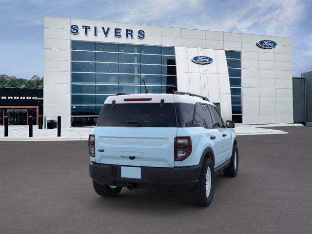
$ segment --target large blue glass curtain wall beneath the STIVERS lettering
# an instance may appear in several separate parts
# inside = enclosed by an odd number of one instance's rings
[[[116,93],[176,91],[174,47],[71,42],[72,127],[95,126],[105,99]]]

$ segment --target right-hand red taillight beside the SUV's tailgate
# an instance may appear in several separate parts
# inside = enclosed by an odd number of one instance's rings
[[[191,137],[175,137],[175,161],[183,161],[191,152]]]

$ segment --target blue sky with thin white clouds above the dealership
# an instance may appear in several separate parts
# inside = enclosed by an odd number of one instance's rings
[[[0,0],[0,74],[43,76],[44,16],[291,37],[312,70],[312,0]]]

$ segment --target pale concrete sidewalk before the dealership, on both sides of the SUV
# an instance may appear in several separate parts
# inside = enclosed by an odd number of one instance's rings
[[[302,124],[267,124],[267,125],[245,125],[236,124],[235,133],[237,136],[243,135],[263,135],[263,134],[285,134],[282,130],[268,129],[267,127],[280,126],[302,126]],[[261,126],[261,128],[259,127]],[[265,127],[265,128],[262,128]],[[61,130],[61,137],[57,137],[57,129],[38,129],[38,125],[33,127],[33,137],[28,137],[27,125],[10,125],[9,137],[4,136],[4,126],[0,126],[0,140],[87,140],[92,127],[89,128],[65,128]]]

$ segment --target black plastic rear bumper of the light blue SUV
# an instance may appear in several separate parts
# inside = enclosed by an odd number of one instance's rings
[[[159,168],[141,167],[141,179],[121,177],[121,165],[99,164],[90,162],[91,178],[98,184],[127,187],[135,184],[142,189],[163,189],[187,192],[198,183],[201,164],[189,167]]]

